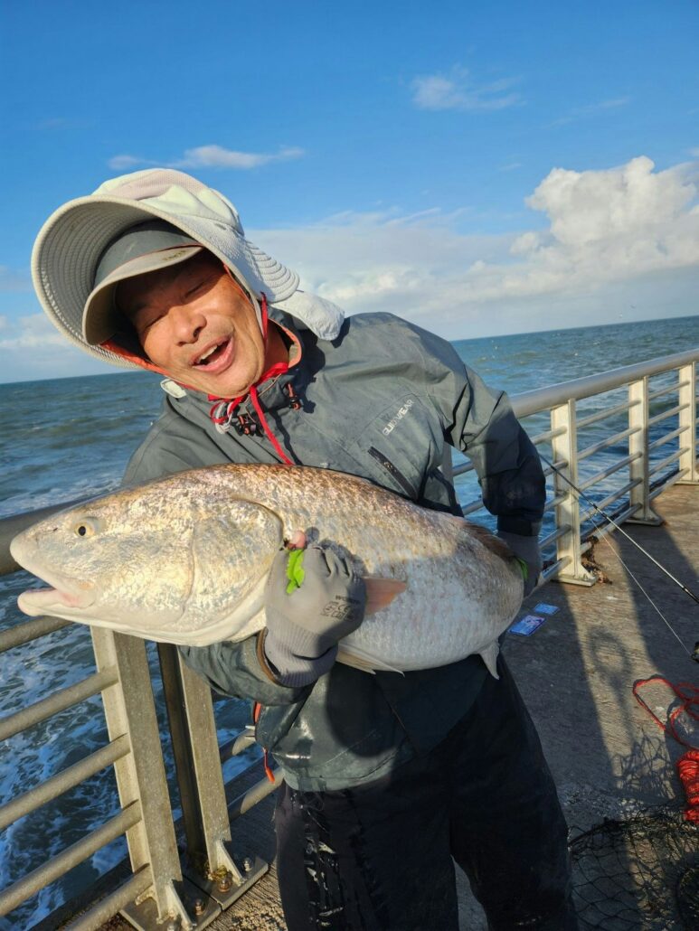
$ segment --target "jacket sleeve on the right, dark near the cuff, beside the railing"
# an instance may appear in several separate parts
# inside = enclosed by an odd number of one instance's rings
[[[428,393],[446,442],[473,462],[498,530],[537,536],[546,499],[541,460],[507,395],[488,387],[451,344],[422,333]]]

